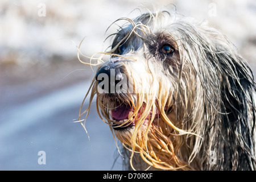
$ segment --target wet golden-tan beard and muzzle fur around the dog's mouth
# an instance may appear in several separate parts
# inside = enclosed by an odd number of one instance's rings
[[[173,106],[177,93],[168,84],[170,78],[164,80],[164,76],[148,74],[146,82],[135,79],[143,77],[130,76],[134,78],[133,93],[129,90],[125,94],[101,94],[97,90],[92,93],[97,94],[98,114],[123,147],[131,152],[131,167],[137,169],[133,166],[133,156],[139,153],[144,162],[155,168],[192,169],[175,154],[180,146],[179,137],[191,133],[175,126]],[[144,84],[139,85],[141,82]],[[93,89],[98,89],[97,81]]]

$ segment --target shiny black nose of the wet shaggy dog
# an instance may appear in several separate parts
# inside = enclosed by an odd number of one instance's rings
[[[123,75],[119,67],[115,65],[105,65],[96,74],[98,86],[104,93],[115,93],[118,82],[123,80]]]

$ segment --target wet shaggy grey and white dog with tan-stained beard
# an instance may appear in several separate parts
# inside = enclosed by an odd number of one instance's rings
[[[82,126],[96,96],[125,169],[254,170],[255,82],[228,38],[172,11],[119,21],[110,51],[78,51],[97,66]]]

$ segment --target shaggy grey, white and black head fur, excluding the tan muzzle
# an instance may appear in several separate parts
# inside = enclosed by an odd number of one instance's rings
[[[125,20],[127,23],[113,34],[109,51],[112,58],[98,70],[118,60],[116,65],[128,75],[129,71],[136,72],[136,65],[144,61],[151,72],[158,72],[159,79],[167,81],[170,93],[164,94],[171,107],[166,115],[171,110],[176,127],[196,134],[177,136],[179,139],[168,135],[174,148],[175,143],[179,144],[177,158],[191,167],[184,169],[255,170],[255,82],[249,65],[233,44],[205,23],[168,11]],[[175,49],[172,55],[159,52],[167,43]],[[121,52],[118,48],[122,48]],[[135,57],[137,62],[125,57]],[[110,102],[109,95],[97,97],[105,105]],[[115,97],[130,99],[120,94]],[[109,119],[104,114],[107,112],[102,111],[102,115]],[[210,163],[212,151],[216,156],[214,164]],[[125,150],[123,155],[129,161],[131,153]],[[133,164],[136,169],[147,166],[136,154]],[[126,161],[125,165],[129,168],[130,164]]]

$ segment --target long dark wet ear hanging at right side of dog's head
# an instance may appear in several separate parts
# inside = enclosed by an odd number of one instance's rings
[[[229,166],[234,169],[245,166],[245,163],[253,169],[255,165],[253,73],[246,60],[231,48],[231,44],[218,44],[214,56],[217,58],[216,71],[220,76],[222,109],[220,126],[225,140],[224,161],[230,161]],[[234,164],[232,161],[237,163]]]

